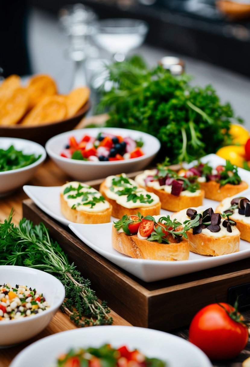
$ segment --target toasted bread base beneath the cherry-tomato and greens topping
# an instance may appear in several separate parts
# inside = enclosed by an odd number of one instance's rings
[[[137,235],[128,236],[112,227],[111,243],[115,250],[137,259],[188,260],[189,248],[186,239],[180,243],[158,243],[141,240]]]

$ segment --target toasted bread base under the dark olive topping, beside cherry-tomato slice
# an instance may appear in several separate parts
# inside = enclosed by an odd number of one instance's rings
[[[209,237],[193,230],[187,232],[189,249],[196,254],[219,256],[239,251],[240,233],[227,237]]]

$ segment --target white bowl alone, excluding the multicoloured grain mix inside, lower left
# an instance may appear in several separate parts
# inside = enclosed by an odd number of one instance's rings
[[[21,343],[40,333],[51,321],[65,298],[63,284],[54,276],[41,270],[27,268],[26,266],[0,266],[0,284],[10,283],[26,285],[36,288],[43,293],[50,305],[47,310],[35,316],[27,316],[16,320],[0,321],[0,347],[7,347]]]

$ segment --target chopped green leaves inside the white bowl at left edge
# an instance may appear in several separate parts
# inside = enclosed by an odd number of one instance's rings
[[[40,157],[41,155],[24,154],[22,150],[16,150],[13,145],[8,149],[0,149],[0,172],[29,166]]]

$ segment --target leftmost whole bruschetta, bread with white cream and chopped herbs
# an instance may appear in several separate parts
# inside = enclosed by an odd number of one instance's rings
[[[61,212],[74,223],[97,224],[110,222],[112,206],[101,193],[85,183],[72,181],[62,186]]]

